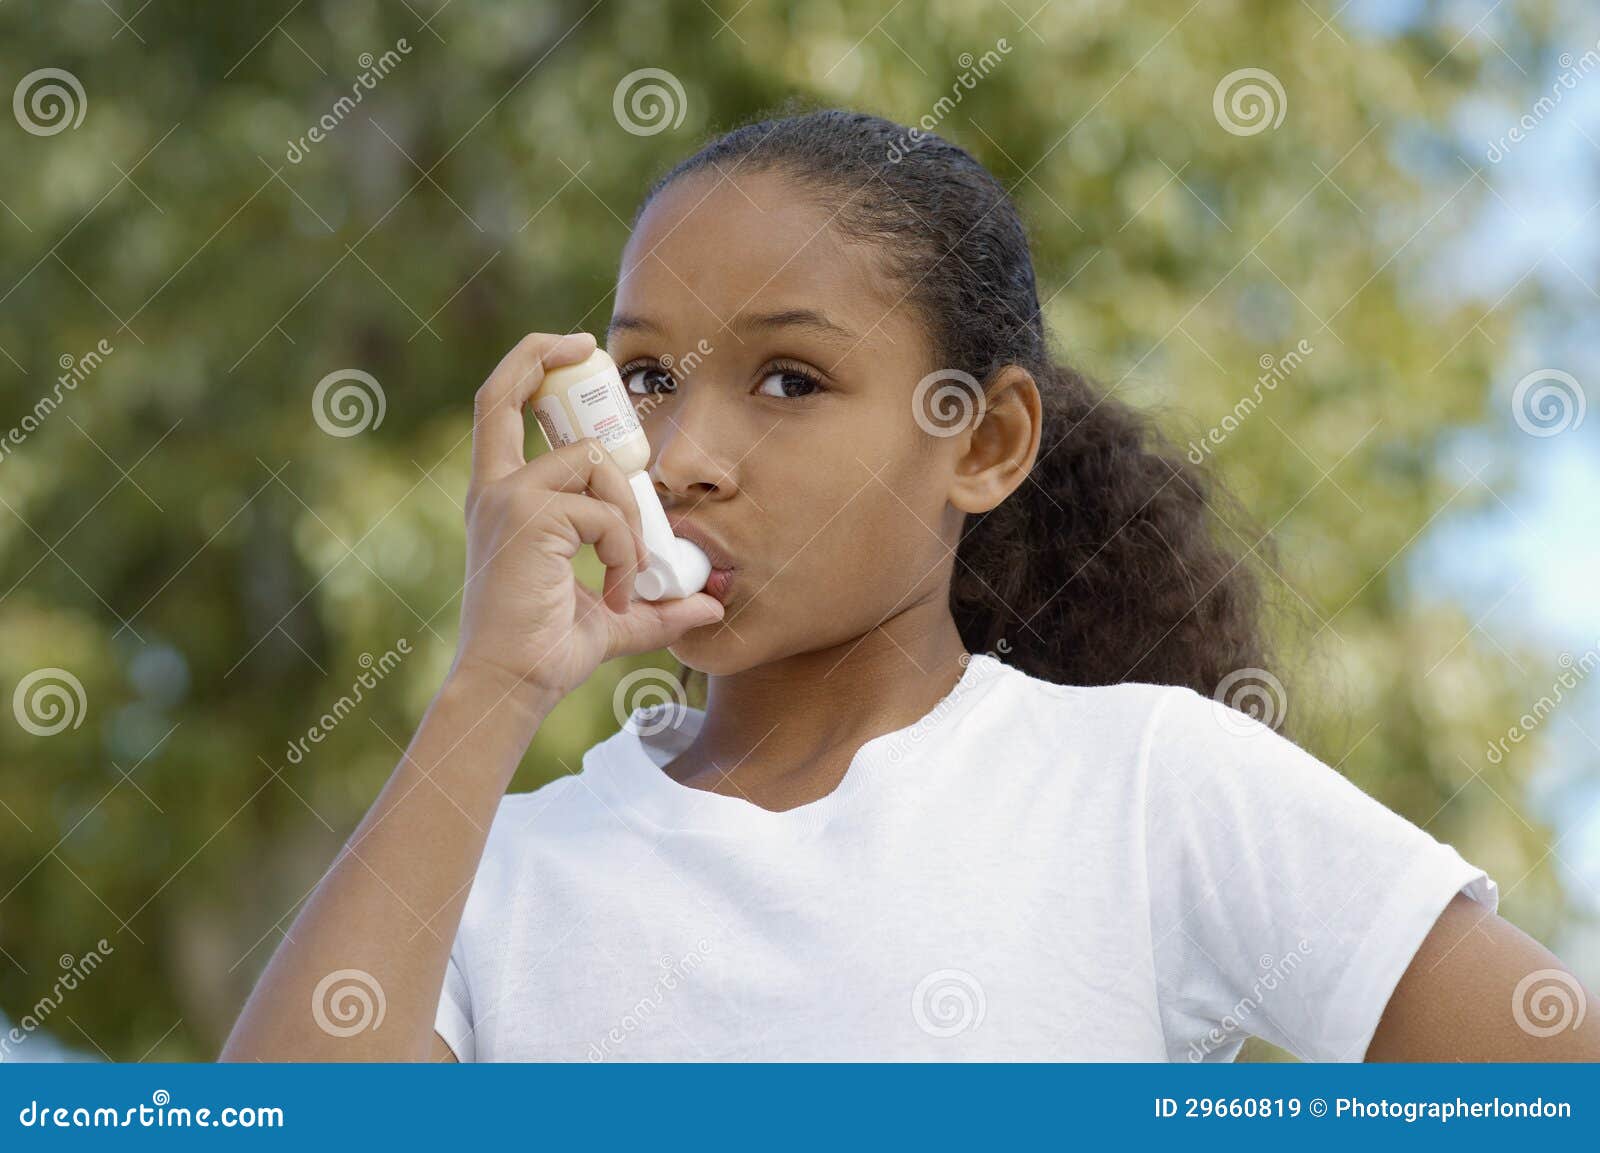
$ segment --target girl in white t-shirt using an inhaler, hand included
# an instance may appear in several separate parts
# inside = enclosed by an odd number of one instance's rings
[[[907,139],[749,125],[635,219],[608,350],[715,595],[632,600],[598,441],[523,459],[589,336],[478,390],[456,660],[224,1057],[1600,1055],[1494,881],[1211,700],[1266,662],[1214,489],[1051,360],[1000,184]],[[662,646],[704,710],[502,796]]]

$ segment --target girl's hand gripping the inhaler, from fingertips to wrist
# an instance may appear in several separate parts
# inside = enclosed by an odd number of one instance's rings
[[[451,668],[488,675],[504,692],[549,708],[611,657],[664,648],[722,619],[715,596],[632,600],[645,565],[638,507],[598,440],[523,459],[523,406],[547,368],[594,352],[587,333],[533,333],[478,389],[467,488],[467,579]],[[605,563],[597,596],[573,574],[581,544]]]

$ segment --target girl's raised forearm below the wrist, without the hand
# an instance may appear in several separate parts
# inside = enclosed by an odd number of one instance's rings
[[[272,955],[222,1060],[429,1055],[445,964],[490,822],[554,705],[530,704],[472,672],[446,680]],[[382,1020],[350,1031],[376,1022],[379,1003]]]

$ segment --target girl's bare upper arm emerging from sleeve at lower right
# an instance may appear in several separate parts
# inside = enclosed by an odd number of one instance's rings
[[[1600,1060],[1600,1001],[1544,945],[1456,896],[1400,977],[1366,1060]]]

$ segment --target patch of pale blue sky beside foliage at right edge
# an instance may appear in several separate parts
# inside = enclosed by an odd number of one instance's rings
[[[1483,19],[1491,6],[1488,0],[1445,5],[1467,40],[1493,35],[1501,45],[1515,43],[1496,26],[1501,13]],[[1360,0],[1346,18],[1394,32],[1419,10],[1419,3]],[[1494,481],[1501,501],[1442,517],[1410,558],[1419,595],[1466,604],[1482,617],[1482,643],[1515,652],[1534,686],[1554,684],[1563,652],[1579,657],[1600,646],[1600,413],[1586,411],[1579,424],[1552,437],[1528,435],[1512,417],[1517,381],[1539,369],[1570,373],[1586,405],[1600,406],[1600,67],[1571,72],[1600,42],[1600,6],[1571,3],[1563,11],[1547,59],[1522,51],[1514,64],[1483,40],[1478,48],[1498,56],[1526,96],[1472,99],[1454,118],[1458,179],[1467,176],[1464,160],[1480,170],[1493,195],[1461,241],[1429,269],[1427,283],[1482,309],[1509,291],[1538,291],[1541,307],[1498,350],[1486,427],[1464,430],[1445,449],[1462,477],[1483,464],[1491,465],[1485,477],[1507,477],[1506,485]],[[1534,114],[1534,101],[1552,93],[1563,72],[1574,83],[1562,90],[1557,107],[1493,162],[1491,141]],[[1533,804],[1560,835],[1558,868],[1568,891],[1600,915],[1600,689],[1586,684],[1541,737]]]

